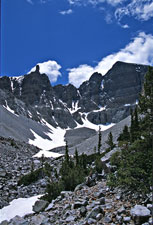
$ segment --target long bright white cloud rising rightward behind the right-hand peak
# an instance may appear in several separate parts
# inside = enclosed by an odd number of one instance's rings
[[[105,75],[117,61],[153,65],[153,35],[140,32],[125,48],[102,58],[95,67],[85,64],[69,69],[69,82],[79,87],[93,72]]]

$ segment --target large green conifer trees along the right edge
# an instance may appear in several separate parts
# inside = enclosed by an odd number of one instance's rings
[[[116,173],[109,175],[110,186],[130,187],[148,192],[152,185],[153,150],[153,68],[144,82],[143,93],[134,112],[131,112],[130,132],[127,127],[118,138],[120,152],[111,157]]]

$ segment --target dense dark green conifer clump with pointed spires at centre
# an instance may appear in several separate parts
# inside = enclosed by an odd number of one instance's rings
[[[86,156],[78,156],[77,149],[75,151],[75,160],[69,156],[68,144],[65,146],[65,157],[60,169],[60,179],[58,182],[48,184],[44,199],[51,201],[55,199],[62,190],[73,191],[74,188],[82,183],[87,175]]]

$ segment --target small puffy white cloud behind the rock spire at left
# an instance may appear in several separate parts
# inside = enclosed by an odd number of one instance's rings
[[[61,66],[56,61],[49,60],[48,62],[38,63],[37,65],[39,65],[40,67],[40,73],[45,73],[52,83],[56,82],[57,78],[61,76],[61,73],[59,71],[61,69]],[[30,72],[33,72],[35,70],[36,66],[33,67]]]

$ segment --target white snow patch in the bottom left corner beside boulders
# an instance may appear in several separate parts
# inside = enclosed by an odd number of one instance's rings
[[[33,196],[30,198],[18,198],[10,202],[10,205],[0,209],[0,223],[4,220],[10,220],[15,216],[25,216],[34,213],[32,206],[42,195]]]

